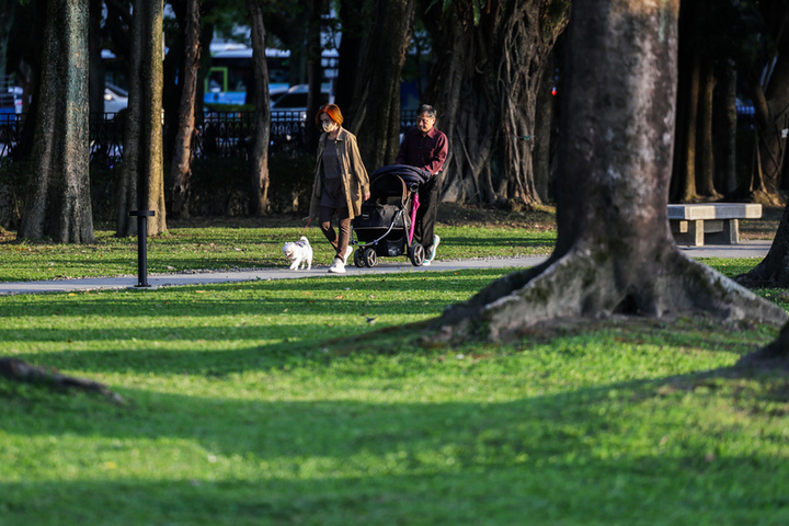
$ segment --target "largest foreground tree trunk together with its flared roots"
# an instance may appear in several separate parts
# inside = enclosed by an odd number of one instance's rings
[[[786,321],[672,239],[677,11],[678,0],[573,3],[554,252],[447,309],[436,322],[444,332],[503,339],[540,321],[615,313]]]

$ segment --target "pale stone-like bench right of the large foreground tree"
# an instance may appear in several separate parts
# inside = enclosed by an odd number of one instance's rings
[[[708,203],[668,205],[668,224],[677,244],[737,244],[740,219],[758,219],[762,205],[752,203]]]

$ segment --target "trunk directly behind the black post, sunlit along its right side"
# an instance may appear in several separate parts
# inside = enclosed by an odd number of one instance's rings
[[[162,0],[135,0],[117,236],[136,233],[135,207],[153,210],[151,236],[167,231],[162,152]]]

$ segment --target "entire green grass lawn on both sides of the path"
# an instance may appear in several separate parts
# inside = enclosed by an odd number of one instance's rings
[[[446,259],[547,254],[554,236],[441,229]],[[282,266],[299,231],[173,228],[151,266]],[[133,274],[134,243],[8,240],[0,281]],[[0,356],[126,403],[0,379],[0,525],[789,524],[786,373],[730,368],[775,330],[643,319],[508,344],[424,338],[506,272],[2,296]],[[785,291],[758,294],[789,309]]]

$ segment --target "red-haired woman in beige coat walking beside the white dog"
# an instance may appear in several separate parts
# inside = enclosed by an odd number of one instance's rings
[[[342,127],[343,116],[336,104],[318,110],[316,124],[323,129],[318,144],[315,184],[310,201],[310,217],[317,217],[320,229],[336,255],[329,267],[335,274],[345,273],[350,247],[351,219],[362,210],[362,203],[369,199],[369,178],[362,162],[356,136]],[[332,217],[338,215],[339,235],[332,228]]]

